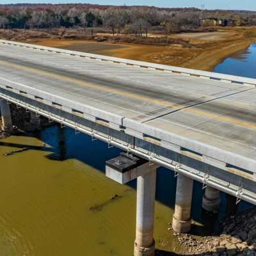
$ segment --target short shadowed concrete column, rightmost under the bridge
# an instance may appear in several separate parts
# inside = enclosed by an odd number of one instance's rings
[[[206,211],[218,211],[220,205],[220,191],[207,186],[202,200],[202,207]]]

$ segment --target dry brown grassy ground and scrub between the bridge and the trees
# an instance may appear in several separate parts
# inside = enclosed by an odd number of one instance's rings
[[[51,33],[17,29],[10,32],[0,30],[0,36],[8,35],[7,39],[200,70],[212,70],[228,56],[244,51],[256,41],[256,28],[221,29],[217,33],[218,36],[216,32],[212,33],[214,34],[211,35],[211,32],[205,35],[195,33],[192,37],[186,37],[186,34],[183,34],[182,39],[177,38],[179,35],[149,38],[88,35],[85,36],[86,40],[82,40],[81,38],[84,37],[81,31],[69,31],[62,36],[65,39],[60,40],[58,30],[51,31]],[[79,40],[77,40],[77,35],[81,36]],[[99,42],[95,43],[92,40]]]

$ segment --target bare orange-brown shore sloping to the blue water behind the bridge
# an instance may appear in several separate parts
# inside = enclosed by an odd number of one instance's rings
[[[145,45],[54,38],[32,38],[22,42],[204,71],[214,70],[225,59],[246,51],[251,44],[256,42],[256,28],[254,27],[223,29],[220,31],[223,36],[207,40],[210,33],[205,33],[205,38],[199,40],[196,37],[186,38],[194,47],[184,47],[179,44]],[[179,35],[174,36],[179,37]],[[184,38],[186,34],[181,36]]]

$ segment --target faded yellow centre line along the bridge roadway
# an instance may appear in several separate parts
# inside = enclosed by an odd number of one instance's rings
[[[138,95],[136,93],[123,92],[121,90],[116,90],[114,88],[109,88],[108,86],[87,83],[85,81],[81,81],[81,80],[76,79],[76,78],[62,76],[60,74],[54,74],[54,73],[44,71],[44,70],[38,70],[37,68],[33,68],[33,67],[25,67],[25,66],[17,65],[17,64],[14,64],[14,63],[9,63],[8,61],[0,61],[0,65],[3,65],[5,67],[10,67],[10,68],[17,68],[19,70],[32,72],[32,73],[35,73],[35,74],[38,74],[38,75],[41,75],[41,76],[47,76],[47,77],[51,77],[51,78],[54,78],[54,79],[67,81],[67,82],[70,82],[70,83],[76,83],[76,84],[79,84],[81,86],[86,86],[87,88],[93,88],[93,89],[97,89],[97,90],[102,90],[104,92],[115,93],[115,94],[122,95],[124,97],[128,97],[128,98],[131,98],[131,99],[137,99],[137,100],[142,100],[142,101],[146,101],[146,102],[152,102],[154,104],[158,104],[158,105],[161,105],[161,106],[165,106],[165,107],[168,107],[168,108],[173,108],[172,109],[173,111],[175,111],[177,109],[184,108],[183,111],[188,111],[189,113],[194,113],[196,115],[204,116],[206,118],[212,118],[212,119],[216,119],[216,120],[229,122],[231,124],[240,125],[240,126],[243,126],[243,127],[246,127],[246,128],[256,129],[256,124],[244,122],[244,121],[241,121],[237,118],[232,118],[230,116],[216,115],[216,114],[201,111],[200,109],[195,109],[195,108],[186,108],[186,106],[182,105],[182,104],[173,104],[173,103],[170,103],[170,102],[164,102],[163,100],[157,100],[157,99],[152,99],[152,98],[147,97],[147,96],[141,96],[141,95]]]

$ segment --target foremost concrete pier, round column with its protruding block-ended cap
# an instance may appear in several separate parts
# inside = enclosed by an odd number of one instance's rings
[[[134,256],[154,256],[154,204],[157,164],[123,154],[106,162],[106,176],[125,184],[137,179]]]

